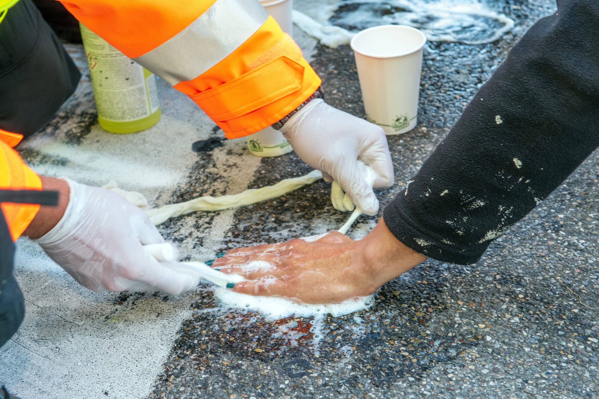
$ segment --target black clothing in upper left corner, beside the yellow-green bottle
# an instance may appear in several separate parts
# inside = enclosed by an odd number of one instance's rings
[[[0,23],[0,129],[27,137],[52,119],[80,78],[31,0]]]

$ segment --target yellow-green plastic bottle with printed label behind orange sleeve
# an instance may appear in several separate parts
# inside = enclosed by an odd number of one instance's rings
[[[80,28],[100,126],[112,133],[134,133],[158,123],[155,75],[85,26]]]

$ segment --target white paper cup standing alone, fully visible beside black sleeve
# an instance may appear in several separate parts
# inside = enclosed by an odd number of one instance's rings
[[[387,135],[416,126],[422,48],[426,36],[411,26],[383,25],[353,36],[367,119]]]

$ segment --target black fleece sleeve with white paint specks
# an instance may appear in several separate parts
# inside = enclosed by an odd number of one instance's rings
[[[599,145],[599,0],[561,0],[385,208],[428,257],[476,262]]]

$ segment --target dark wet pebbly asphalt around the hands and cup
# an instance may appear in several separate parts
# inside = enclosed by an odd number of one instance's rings
[[[419,123],[406,135],[389,136],[397,184],[379,191],[381,208],[405,187],[509,49],[537,19],[555,11],[549,0],[485,4],[515,20],[515,28],[492,44],[429,42]],[[301,4],[297,8],[302,10]],[[364,117],[349,46],[317,45],[312,58],[327,102]],[[160,87],[168,120],[189,119],[191,105],[172,106],[180,105],[180,98],[165,95],[165,85]],[[72,145],[86,141],[94,123],[89,104],[77,112],[69,118],[80,129],[64,133],[71,135]],[[189,177],[170,193],[156,191],[151,202],[237,193],[310,171],[293,153],[256,160],[243,142],[221,141],[222,132],[209,123],[198,131],[198,137],[187,140],[194,157],[186,170]],[[49,168],[69,162],[36,152],[34,145],[23,156]],[[186,308],[190,303],[190,309],[148,398],[599,397],[597,165],[599,154],[594,153],[492,243],[478,263],[426,261],[383,286],[369,309],[329,315],[319,325],[311,318],[272,321],[227,309],[207,285],[183,299],[159,296],[162,303],[178,301]],[[238,176],[243,170],[246,175]],[[347,218],[332,208],[329,190],[320,181],[234,211],[183,215],[159,230],[192,259],[322,233]],[[363,215],[348,235],[363,237],[380,216]],[[152,295],[108,298],[115,309],[135,313]],[[114,392],[107,389],[103,397],[125,397]]]

